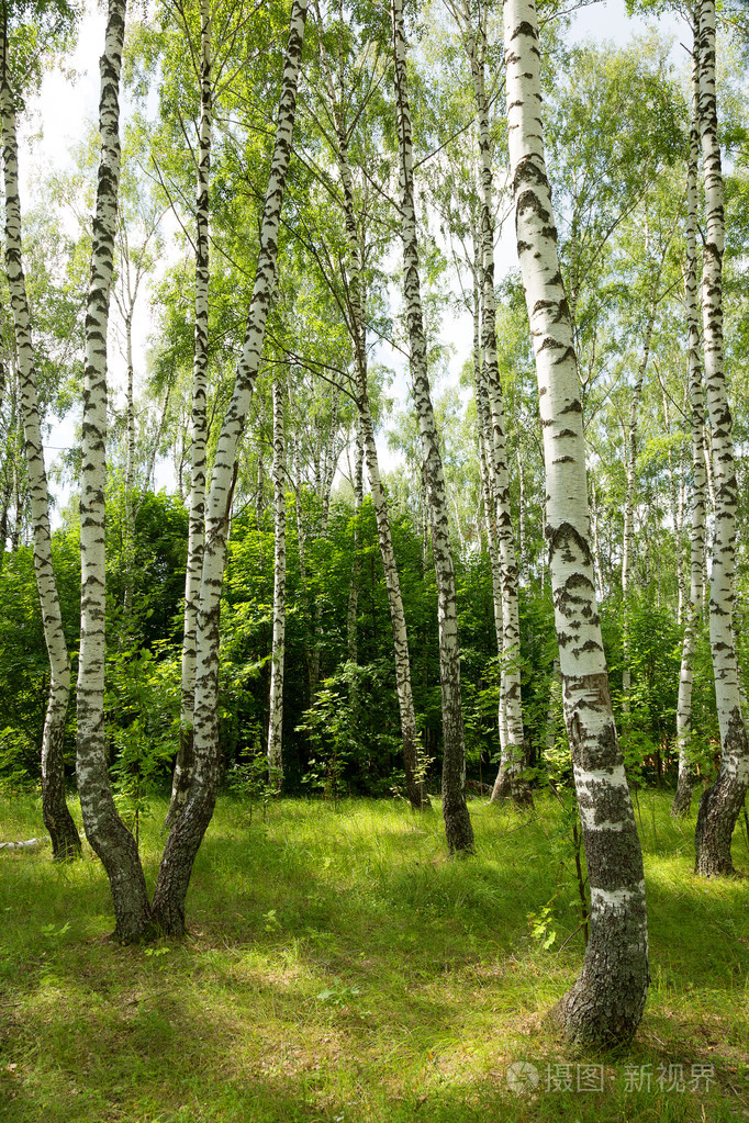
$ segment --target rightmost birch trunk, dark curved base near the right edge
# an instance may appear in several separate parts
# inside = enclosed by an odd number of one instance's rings
[[[710,579],[710,646],[721,731],[721,767],[702,796],[695,839],[695,870],[706,876],[733,873],[731,838],[749,787],[749,748],[741,715],[739,665],[733,642],[737,477],[731,410],[723,375],[722,272],[724,246],[723,176],[715,104],[715,4],[697,4],[700,137],[705,181],[706,231],[702,267],[702,336],[705,387],[712,436],[715,532]]]

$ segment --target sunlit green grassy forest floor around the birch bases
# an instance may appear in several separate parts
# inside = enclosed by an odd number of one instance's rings
[[[570,1049],[544,1022],[583,953],[548,794],[530,816],[474,800],[477,852],[463,861],[446,857],[438,806],[284,800],[250,823],[222,798],[194,867],[191,934],[150,947],[109,939],[88,848],[71,866],[49,849],[0,853],[0,1117],[749,1119],[749,879],[696,878],[694,821],[674,823],[666,794],[639,803],[652,983],[618,1054]],[[164,812],[154,802],[140,827],[152,885]],[[3,841],[40,834],[38,801],[0,797],[0,824]],[[733,855],[746,874],[742,828]],[[521,1062],[532,1069],[511,1069]]]

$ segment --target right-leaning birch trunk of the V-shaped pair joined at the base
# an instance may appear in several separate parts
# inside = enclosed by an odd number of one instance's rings
[[[276,119],[275,144],[265,194],[253,300],[234,393],[223,418],[213,464],[205,519],[205,547],[198,611],[194,704],[194,769],[182,814],[164,848],[154,893],[154,916],[164,932],[184,932],[184,909],[195,855],[211,821],[219,780],[218,657],[219,606],[223,583],[237,447],[263,354],[265,323],[275,289],[278,226],[296,113],[308,0],[294,0]]]

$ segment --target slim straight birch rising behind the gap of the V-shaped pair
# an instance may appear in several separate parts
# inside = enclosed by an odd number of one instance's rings
[[[190,529],[184,581],[184,632],[182,639],[182,696],[180,750],[172,779],[166,824],[179,819],[188,801],[193,769],[193,709],[195,702],[195,629],[205,530],[205,394],[208,389],[208,293],[210,284],[210,172],[213,89],[211,79],[210,0],[200,7],[200,133],[195,195],[195,344],[192,366],[192,468],[190,477]]]

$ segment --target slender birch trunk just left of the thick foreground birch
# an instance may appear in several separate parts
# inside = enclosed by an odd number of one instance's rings
[[[479,19],[481,22],[481,19]],[[479,27],[483,35],[483,27]],[[532,806],[530,785],[523,778],[526,745],[520,690],[520,570],[515,557],[510,509],[510,472],[504,428],[504,402],[496,360],[496,309],[494,303],[494,189],[492,144],[484,82],[484,45],[479,46],[473,28],[466,39],[474,83],[478,143],[481,147],[481,232],[482,232],[482,377],[486,387],[492,428],[486,449],[490,481],[496,506],[496,533],[502,574],[502,677],[500,684],[501,760],[492,791],[492,802],[511,796],[520,806]]]

